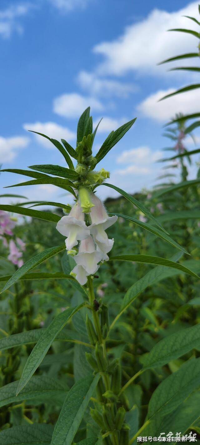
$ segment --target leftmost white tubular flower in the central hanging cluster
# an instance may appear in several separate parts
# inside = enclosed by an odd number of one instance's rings
[[[84,213],[78,202],[72,207],[68,216],[63,216],[58,221],[56,229],[61,235],[67,236],[65,240],[66,249],[71,250],[78,244],[78,240],[83,240],[90,236],[89,228],[84,222]]]

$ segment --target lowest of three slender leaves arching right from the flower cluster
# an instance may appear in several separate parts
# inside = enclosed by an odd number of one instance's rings
[[[110,257],[109,261],[131,261],[136,263],[146,263],[146,264],[159,264],[161,266],[172,267],[178,269],[188,275],[192,275],[195,278],[199,278],[194,272],[190,271],[187,267],[182,266],[182,264],[174,263],[170,259],[160,258],[159,256],[151,255],[117,255]]]

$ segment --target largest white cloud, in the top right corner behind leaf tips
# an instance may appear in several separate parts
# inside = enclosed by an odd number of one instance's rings
[[[198,19],[198,2],[176,12],[154,9],[144,20],[125,28],[124,34],[116,40],[97,44],[94,52],[104,57],[99,72],[122,75],[137,70],[159,74],[166,71],[166,66],[156,67],[158,62],[181,53],[195,52],[198,42],[194,36],[166,32],[170,28],[191,27],[199,32],[199,26],[183,16]]]

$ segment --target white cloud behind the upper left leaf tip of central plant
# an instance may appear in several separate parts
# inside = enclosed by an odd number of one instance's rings
[[[61,138],[65,139],[66,141],[71,141],[72,139],[76,138],[75,133],[73,133],[66,127],[62,127],[61,125],[56,124],[55,122],[35,122],[33,124],[24,124],[23,128],[25,130],[38,131],[38,133],[46,134],[46,136],[57,139],[59,141]],[[50,141],[48,141],[48,139],[40,136],[39,134],[34,134],[34,136],[41,145],[46,148],[53,149],[54,146]]]

